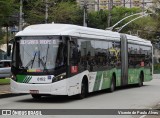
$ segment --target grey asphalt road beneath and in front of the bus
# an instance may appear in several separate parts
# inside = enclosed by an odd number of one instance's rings
[[[0,99],[0,109],[149,109],[160,103],[160,76],[155,75],[143,87],[119,88],[113,93],[106,91],[91,93],[83,100],[75,97],[49,96],[41,100],[34,100],[30,95],[22,95]],[[8,117],[8,116],[5,116]],[[22,117],[22,116],[12,116]],[[26,116],[27,117],[27,116]],[[35,117],[35,116],[34,116]],[[139,115],[54,115],[37,116],[37,118],[150,118]],[[160,116],[158,116],[160,117]],[[152,116],[151,118],[154,118]],[[155,117],[157,118],[157,117]]]

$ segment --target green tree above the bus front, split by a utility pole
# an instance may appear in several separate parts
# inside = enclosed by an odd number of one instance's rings
[[[82,24],[82,10],[75,2],[48,0],[48,22]],[[25,21],[29,24],[45,23],[45,2],[32,0],[24,6]]]

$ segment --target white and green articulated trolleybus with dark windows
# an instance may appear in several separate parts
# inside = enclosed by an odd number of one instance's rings
[[[77,95],[152,79],[152,44],[136,36],[69,24],[31,25],[17,33],[11,91]]]

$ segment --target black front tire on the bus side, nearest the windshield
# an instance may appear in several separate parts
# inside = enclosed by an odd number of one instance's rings
[[[87,97],[87,94],[88,94],[87,83],[86,83],[86,81],[82,81],[81,93],[78,94],[78,99],[84,99],[85,97]]]

